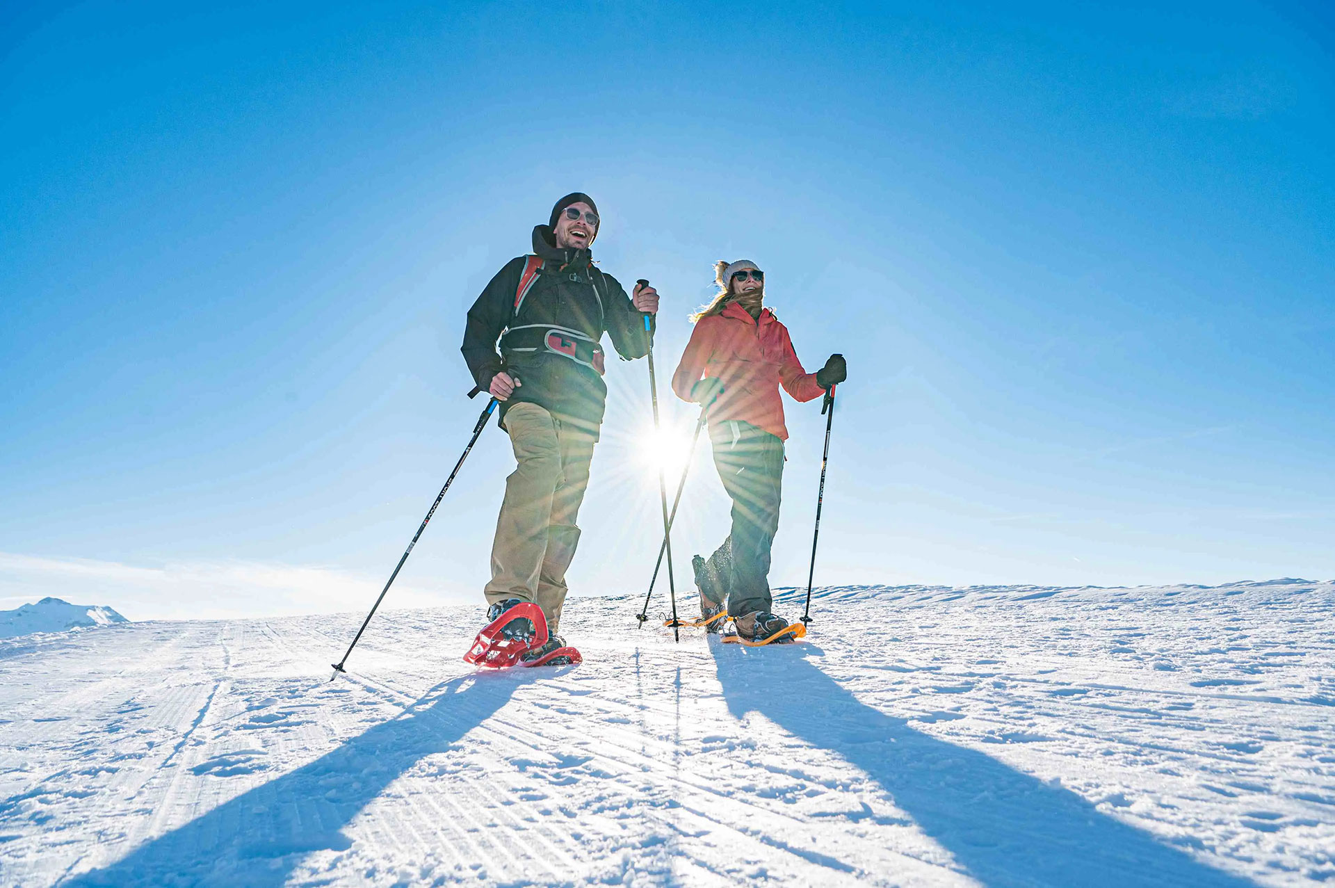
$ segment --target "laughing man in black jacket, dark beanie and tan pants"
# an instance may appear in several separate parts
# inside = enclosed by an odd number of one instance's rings
[[[598,226],[589,195],[558,200],[547,224],[533,230],[533,255],[497,272],[469,310],[463,332],[463,359],[478,387],[501,402],[499,423],[517,463],[491,543],[487,621],[534,602],[551,633],[546,645],[522,654],[525,662],[565,644],[555,633],[566,569],[579,541],[575,517],[607,398],[602,334],[611,335],[623,359],[642,358],[649,351],[643,315],[658,312],[653,287],[637,286],[631,299],[593,264]]]

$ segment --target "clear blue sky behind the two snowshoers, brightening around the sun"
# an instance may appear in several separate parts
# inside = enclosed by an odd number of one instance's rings
[[[663,295],[752,258],[840,390],[817,582],[1335,576],[1318,4],[36,4],[0,61],[0,608],[364,608],[467,439],[463,312],[553,200]],[[571,570],[642,590],[643,362]],[[776,585],[824,421],[786,402]],[[471,598],[489,430],[391,605]],[[702,445],[678,573],[726,531]],[[682,585],[688,585],[684,580]]]

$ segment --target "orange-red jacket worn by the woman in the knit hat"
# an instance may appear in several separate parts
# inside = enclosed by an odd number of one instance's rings
[[[757,320],[736,302],[696,324],[672,377],[672,390],[690,401],[692,386],[705,377],[718,377],[724,383],[724,394],[709,409],[710,426],[742,419],[782,439],[788,438],[788,427],[780,383],[797,401],[825,394],[816,385],[816,374],[802,370],[788,327],[769,308],[761,308]]]

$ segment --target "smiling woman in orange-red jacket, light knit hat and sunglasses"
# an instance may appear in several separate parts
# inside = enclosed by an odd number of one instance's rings
[[[714,272],[720,292],[692,318],[696,328],[672,378],[678,398],[708,407],[714,467],[733,501],[732,533],[708,562],[693,560],[696,585],[710,632],[724,622],[726,605],[737,634],[764,641],[789,626],[769,610],[788,438],[778,386],[812,401],[848,371],[842,355],[830,355],[816,373],[802,370],[788,328],[764,306],[765,272],[754,262],[718,262]]]

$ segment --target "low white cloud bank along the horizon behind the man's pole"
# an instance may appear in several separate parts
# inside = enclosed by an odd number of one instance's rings
[[[52,596],[73,604],[107,605],[129,620],[366,612],[384,580],[319,565],[195,561],[140,566],[0,551],[0,609]],[[400,578],[384,606],[427,608],[475,597],[475,589],[414,588]]]

